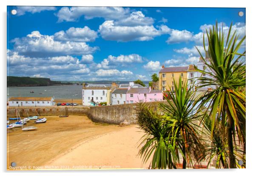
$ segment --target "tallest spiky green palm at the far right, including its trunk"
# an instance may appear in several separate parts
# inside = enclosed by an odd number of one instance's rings
[[[228,36],[225,38],[222,29],[216,26],[206,30],[208,38],[208,54],[209,60],[204,58],[199,52],[202,62],[207,69],[197,71],[208,74],[210,77],[199,77],[201,85],[198,88],[212,86],[212,91],[207,91],[201,101],[204,105],[210,102],[210,116],[212,118],[211,137],[216,127],[215,121],[221,121],[222,128],[226,129],[226,133],[222,130],[222,135],[227,135],[229,166],[236,168],[236,158],[234,155],[234,146],[236,147],[235,137],[237,135],[239,143],[245,147],[245,93],[241,90],[245,88],[245,61],[242,54],[238,53],[239,48],[245,36],[238,40],[236,31],[231,35],[232,23],[230,25]],[[226,41],[225,41],[226,40]],[[205,35],[203,37],[203,45],[205,47]],[[227,121],[227,126],[225,122]],[[234,139],[233,139],[234,138]]]

